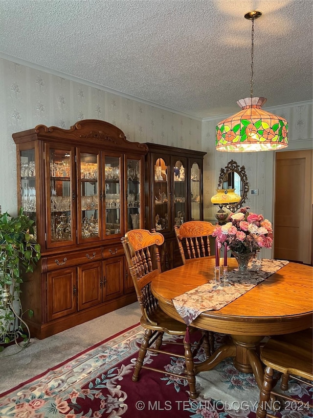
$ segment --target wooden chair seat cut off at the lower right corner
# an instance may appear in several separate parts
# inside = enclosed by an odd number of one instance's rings
[[[261,360],[266,366],[306,379],[312,379],[312,357],[312,329],[274,336],[261,349]]]

